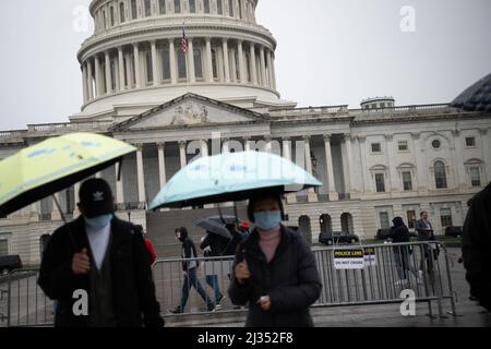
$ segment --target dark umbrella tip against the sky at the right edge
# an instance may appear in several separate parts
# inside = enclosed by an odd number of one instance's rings
[[[491,74],[463,92],[451,107],[466,111],[491,111]]]

